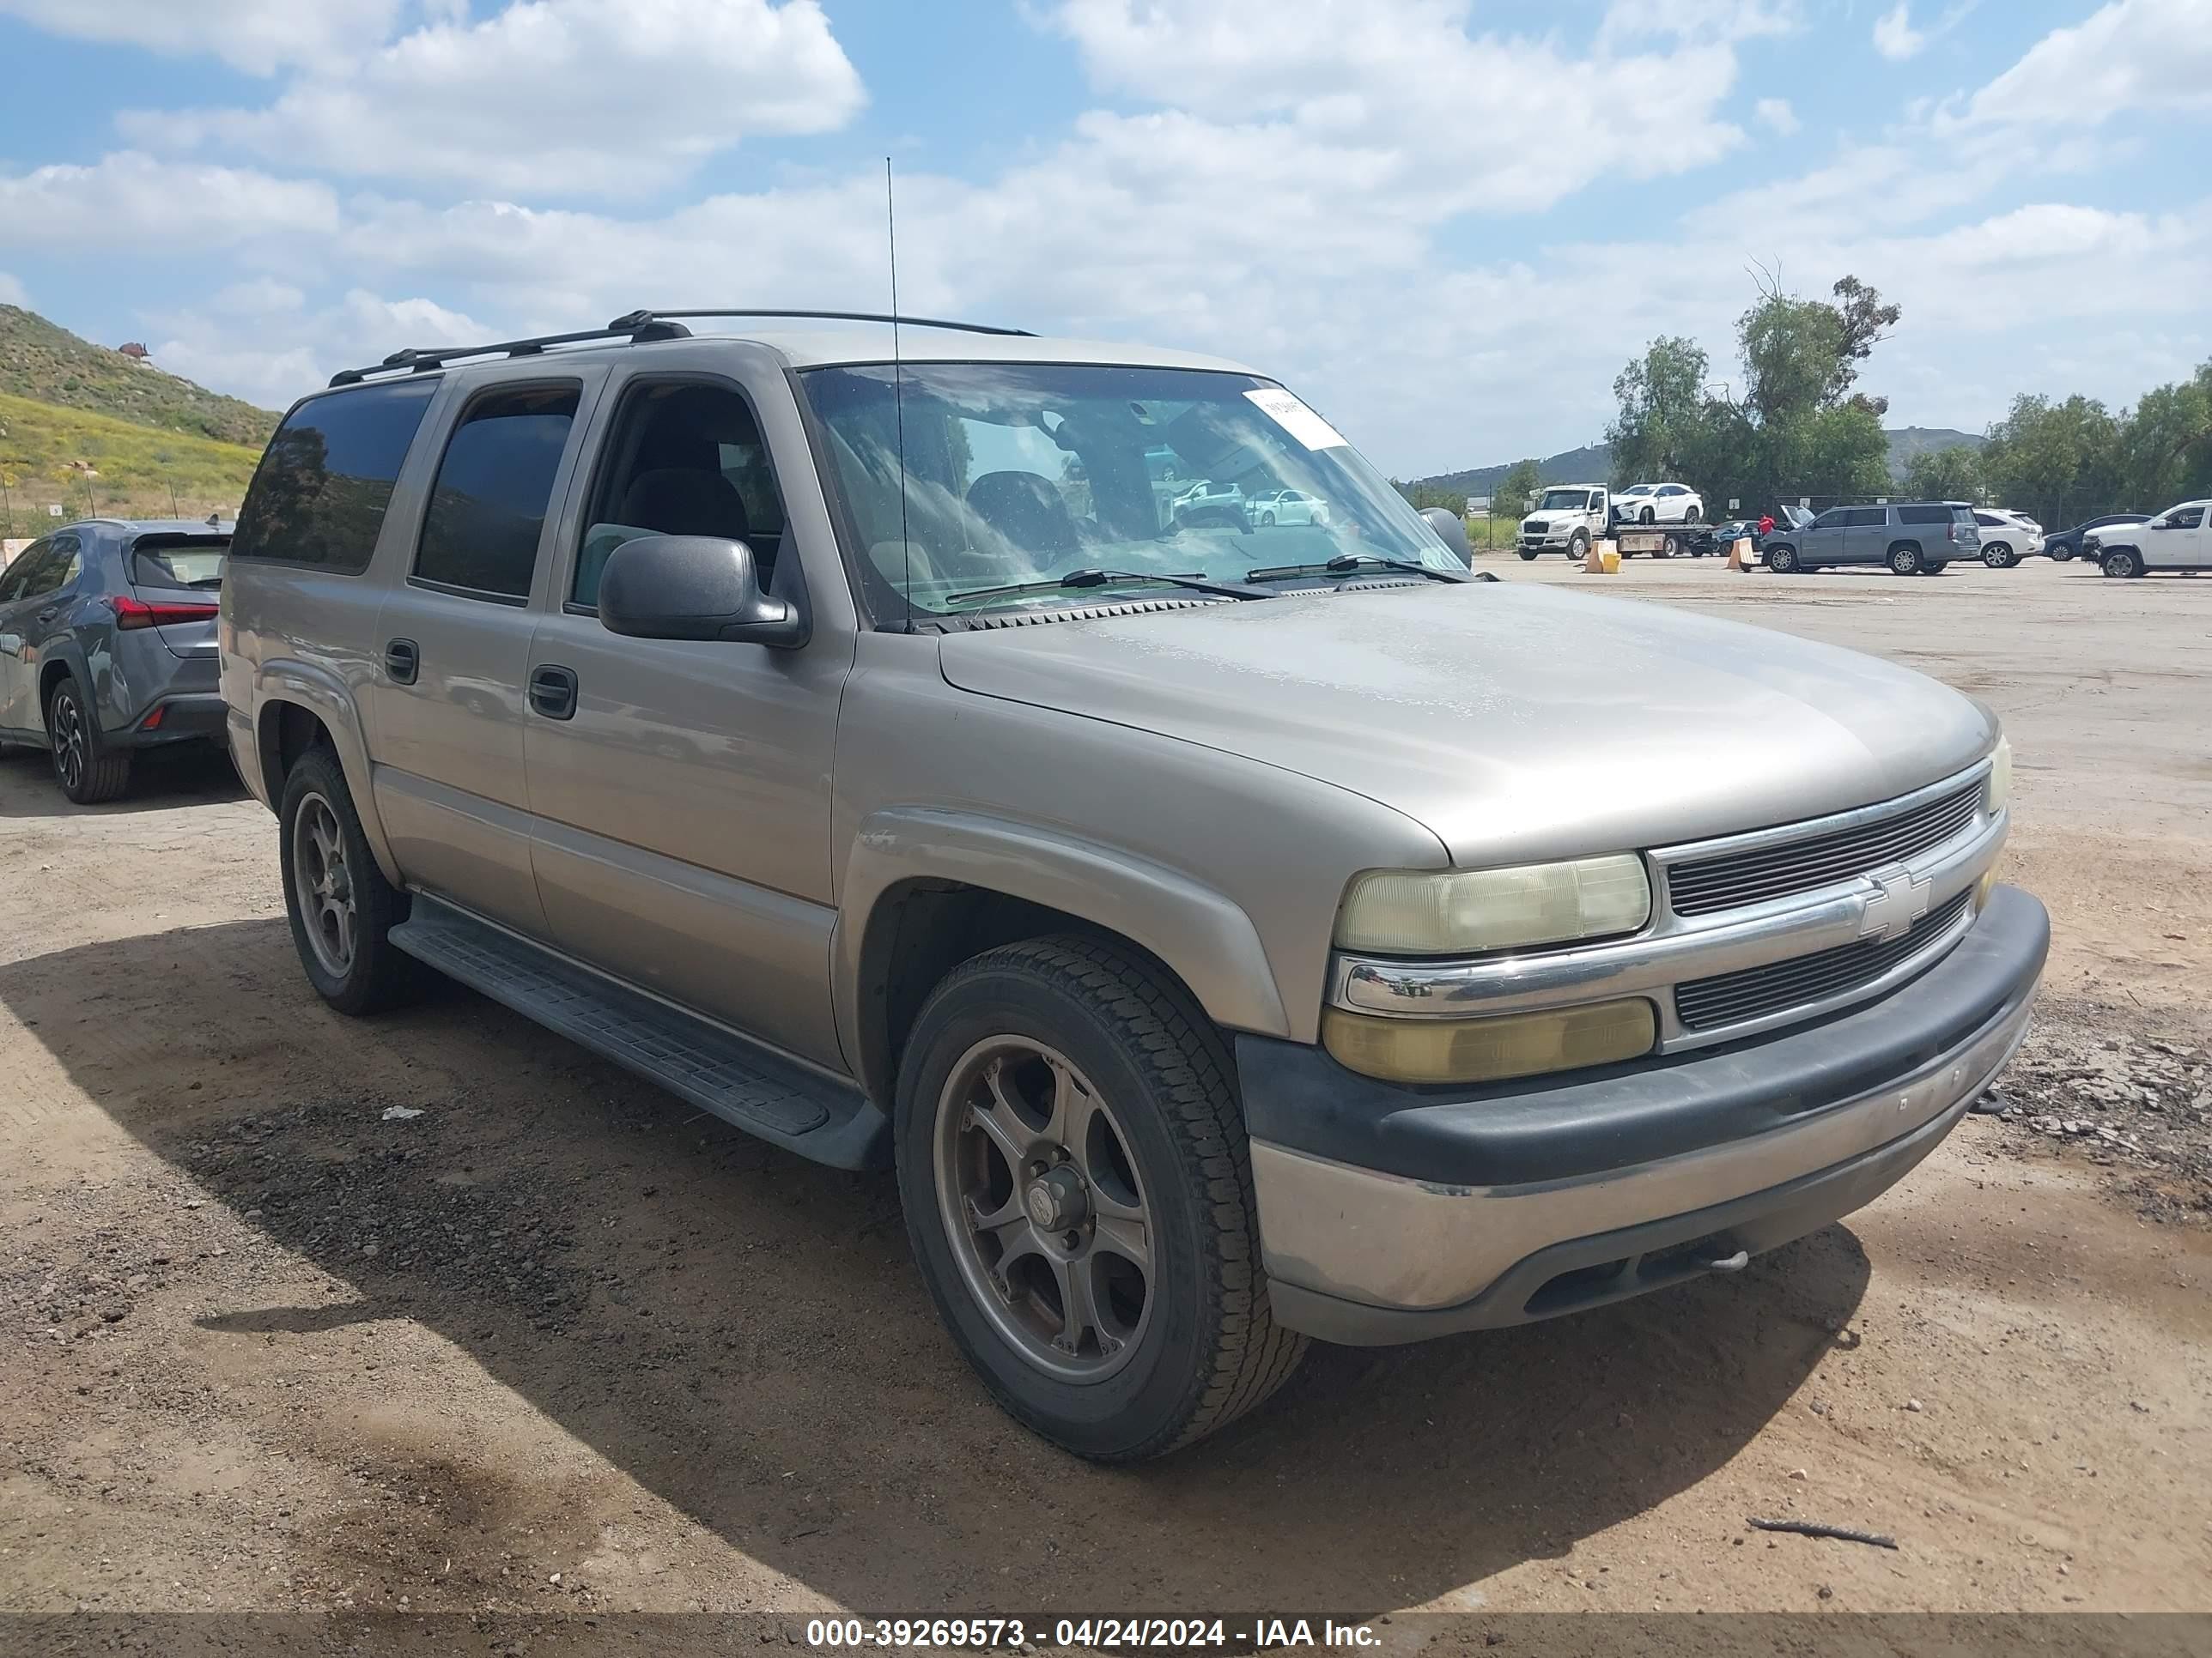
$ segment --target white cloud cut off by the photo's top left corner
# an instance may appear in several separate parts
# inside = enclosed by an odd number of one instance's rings
[[[250,75],[374,46],[398,13],[400,0],[0,0],[0,15],[55,35],[221,57]]]

